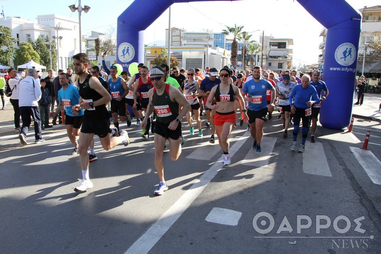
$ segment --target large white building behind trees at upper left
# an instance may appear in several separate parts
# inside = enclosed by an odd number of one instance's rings
[[[43,38],[56,36],[58,39],[54,42],[58,43],[60,69],[66,69],[72,56],[79,53],[79,23],[76,19],[57,14],[38,15],[37,22],[21,17],[7,17],[6,20],[0,20],[0,25],[12,29],[12,36],[17,39],[16,47],[20,42],[35,41],[40,35]],[[84,43],[82,45],[84,48]]]

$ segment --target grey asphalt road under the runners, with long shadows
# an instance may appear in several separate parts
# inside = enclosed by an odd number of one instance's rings
[[[169,190],[159,197],[153,138],[144,141],[135,126],[128,147],[103,151],[96,142],[94,187],[84,194],[73,192],[79,157],[68,155],[63,126],[27,146],[5,133],[0,252],[380,253],[381,185],[354,155],[370,128],[369,152],[379,163],[379,123],[356,119],[354,133],[319,126],[317,142],[297,153],[276,117],[265,125],[260,154],[245,125],[233,130],[229,166],[219,162],[218,142],[208,143],[208,129],[190,137],[183,123],[187,142],[177,161],[164,153]]]

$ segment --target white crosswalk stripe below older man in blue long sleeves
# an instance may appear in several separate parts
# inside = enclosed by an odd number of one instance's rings
[[[306,151],[303,153],[303,172],[306,174],[332,177],[323,143],[306,142]]]

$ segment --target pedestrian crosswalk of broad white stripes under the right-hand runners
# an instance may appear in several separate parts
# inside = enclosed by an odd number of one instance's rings
[[[233,132],[230,136],[231,146],[234,142],[240,138],[247,139],[242,143],[242,147],[239,147],[239,152],[232,157],[232,166],[246,165],[253,167],[264,167],[269,165],[273,161],[278,161],[277,156],[279,153],[290,152],[291,139],[287,139],[288,142],[284,142],[282,138],[263,136],[261,142],[261,153],[256,153],[251,149],[252,138],[249,132],[244,130]],[[278,143],[277,143],[278,142]],[[324,142],[324,141],[323,141]],[[295,152],[294,158],[289,163],[302,163],[300,166],[303,173],[309,175],[316,175],[322,177],[332,177],[332,170],[328,162],[323,142],[311,143],[306,142],[306,152]],[[351,151],[355,154],[359,163],[364,168],[371,181],[375,184],[381,184],[381,172],[376,171],[375,168],[381,168],[381,162],[370,152],[364,151],[359,148],[350,147]],[[198,159],[198,160],[211,160],[216,154],[221,154],[221,147],[216,140],[216,144],[206,144],[199,146],[192,153],[188,154],[186,158]],[[244,154],[244,156],[242,156]],[[239,159],[242,158],[243,159]]]

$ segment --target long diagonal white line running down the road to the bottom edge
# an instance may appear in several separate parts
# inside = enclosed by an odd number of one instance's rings
[[[238,149],[244,144],[249,135],[249,132],[245,132],[244,135],[229,149],[231,157],[233,157]],[[223,163],[221,163],[221,161],[214,163],[209,170],[189,188],[189,190],[187,190],[137,241],[134,242],[134,244],[131,245],[129,249],[127,249],[125,254],[147,253],[189,207],[189,205],[200,195],[205,187],[207,187],[222,167]]]

